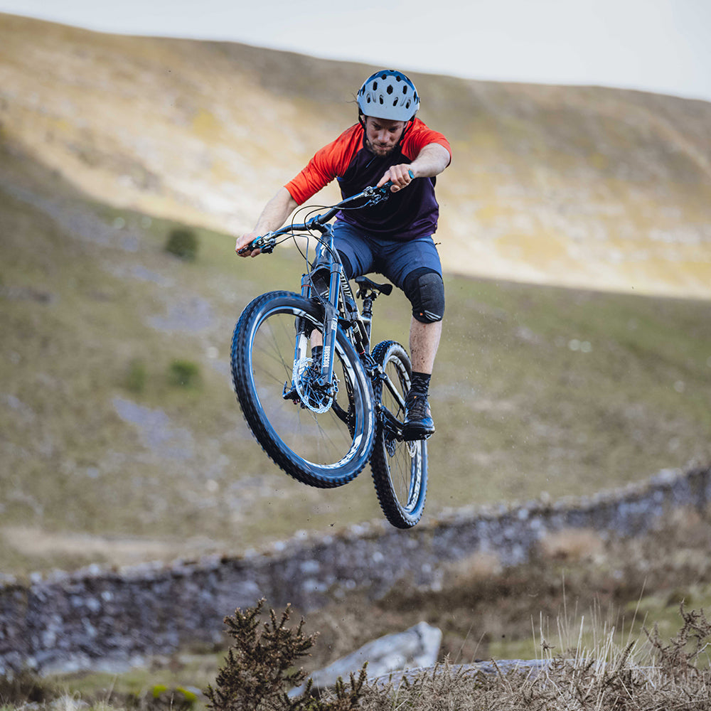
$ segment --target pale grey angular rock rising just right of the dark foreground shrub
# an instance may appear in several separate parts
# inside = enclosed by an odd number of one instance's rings
[[[405,632],[388,634],[368,642],[348,656],[314,672],[310,678],[314,689],[325,689],[335,685],[338,677],[348,680],[351,673],[357,675],[365,662],[368,662],[368,679],[411,667],[431,667],[437,663],[440,643],[442,631],[427,622],[419,622]],[[305,688],[306,684],[301,685],[289,696],[301,695]]]

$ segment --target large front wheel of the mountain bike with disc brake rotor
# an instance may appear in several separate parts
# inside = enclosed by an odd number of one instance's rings
[[[310,358],[294,364],[297,339],[323,332],[320,304],[292,292],[252,301],[232,336],[232,383],[252,433],[269,457],[299,481],[331,488],[348,483],[370,459],[375,407],[370,379],[338,328],[333,387],[309,389]]]

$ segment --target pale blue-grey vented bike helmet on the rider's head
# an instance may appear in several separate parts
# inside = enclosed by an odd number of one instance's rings
[[[363,82],[358,108],[364,116],[390,121],[410,121],[419,109],[415,85],[394,69],[383,69]]]

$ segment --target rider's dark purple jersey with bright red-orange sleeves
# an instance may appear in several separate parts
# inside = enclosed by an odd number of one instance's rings
[[[405,136],[387,156],[376,156],[365,145],[365,131],[360,124],[351,126],[333,143],[324,146],[286,188],[301,205],[330,183],[338,180],[343,198],[376,185],[391,166],[412,163],[424,146],[437,143],[449,151],[449,141],[415,119]],[[439,205],[434,197],[435,178],[417,178],[407,188],[390,193],[387,201],[370,208],[341,210],[338,218],[364,230],[373,237],[406,242],[427,237],[437,230]]]

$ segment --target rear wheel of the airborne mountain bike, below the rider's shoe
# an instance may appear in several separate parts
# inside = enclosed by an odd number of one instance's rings
[[[402,439],[412,366],[405,348],[395,341],[378,343],[373,358],[383,369],[375,383],[380,416],[370,457],[373,483],[385,518],[397,528],[412,528],[422,518],[427,496],[427,442]]]

